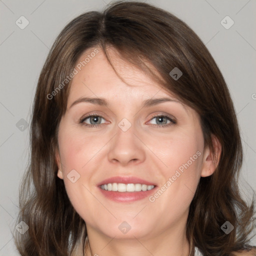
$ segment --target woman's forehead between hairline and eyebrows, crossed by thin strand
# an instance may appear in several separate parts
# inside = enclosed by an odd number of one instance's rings
[[[174,98],[170,91],[140,68],[121,58],[115,49],[109,48],[108,55],[116,72],[99,47],[89,48],[80,55],[75,63],[77,73],[70,84],[69,104],[75,97],[85,95],[108,98],[129,95],[143,99],[157,94],[158,97],[168,95]]]

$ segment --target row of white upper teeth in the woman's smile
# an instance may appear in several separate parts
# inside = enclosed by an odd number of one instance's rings
[[[146,191],[151,190],[154,188],[154,185],[145,185],[145,184],[124,184],[124,183],[108,183],[100,186],[104,190],[108,191],[118,191],[118,192],[139,192],[139,191]]]

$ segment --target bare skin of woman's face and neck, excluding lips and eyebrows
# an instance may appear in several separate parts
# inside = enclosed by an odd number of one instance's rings
[[[92,49],[86,50],[77,63],[90,52]],[[122,60],[113,48],[108,52],[123,80],[100,49],[73,77],[67,110],[58,130],[57,175],[64,180],[73,207],[86,222],[91,255],[187,256],[185,224],[189,204],[200,177],[211,175],[216,166],[212,153],[204,146],[199,116],[141,70]],[[85,96],[103,97],[109,105],[80,102],[71,106]],[[141,107],[143,100],[160,97],[175,101]],[[102,116],[98,118],[101,126],[79,123],[81,117],[90,113]],[[156,122],[156,114],[169,114],[176,123],[161,126]],[[118,127],[123,118],[131,124],[125,132]],[[84,122],[95,124],[90,118]],[[168,119],[162,122],[169,123]],[[220,145],[216,139],[215,146],[219,159]],[[153,202],[147,197],[135,202],[114,202],[96,186],[105,178],[119,175],[137,176],[160,188],[197,151],[200,156]],[[74,183],[67,178],[72,169],[80,175]],[[131,226],[125,234],[118,229],[123,221]]]

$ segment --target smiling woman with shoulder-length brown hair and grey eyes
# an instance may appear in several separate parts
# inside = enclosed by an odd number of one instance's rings
[[[172,14],[116,2],[69,22],[38,80],[30,140],[21,255],[255,255],[227,86]]]

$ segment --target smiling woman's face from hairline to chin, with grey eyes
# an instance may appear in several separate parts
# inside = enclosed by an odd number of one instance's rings
[[[211,174],[199,116],[109,49],[122,81],[93,49],[76,63],[58,131],[58,177],[73,207],[88,232],[109,237],[184,227],[200,176]]]

